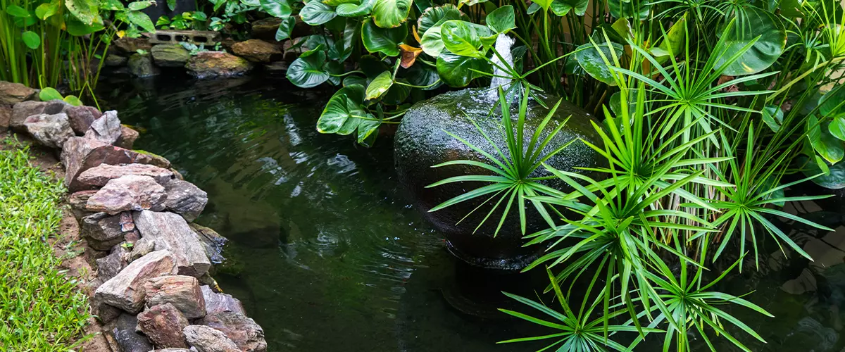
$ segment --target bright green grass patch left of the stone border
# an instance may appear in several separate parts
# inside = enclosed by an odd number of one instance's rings
[[[64,188],[16,147],[0,150],[0,350],[77,349],[90,317],[85,295],[46,241],[57,234]]]

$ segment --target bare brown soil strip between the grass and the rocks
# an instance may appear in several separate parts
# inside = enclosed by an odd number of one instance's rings
[[[28,136],[17,133],[0,132],[0,150],[14,148],[4,143],[6,138],[17,138],[19,142],[30,146],[30,154],[33,159],[31,165],[37,166],[41,171],[52,175],[57,181],[64,180],[64,168],[58,160],[57,151],[35,144]],[[62,208],[62,220],[59,223],[57,236],[50,237],[47,241],[52,245],[53,254],[63,258],[61,269],[68,270],[68,276],[79,280],[79,290],[85,292],[89,298],[94,295],[96,289],[89,283],[95,279],[95,269],[91,263],[95,263],[92,253],[86,252],[85,240],[79,235],[79,223],[71,213],[67,203],[60,204]],[[113,343],[111,335],[103,325],[94,317],[89,320],[89,326],[85,328],[85,335],[92,337],[80,346],[85,352],[112,352],[118,351],[117,344]]]

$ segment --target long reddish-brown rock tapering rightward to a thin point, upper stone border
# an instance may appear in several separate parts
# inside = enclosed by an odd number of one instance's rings
[[[74,137],[69,138],[62,149],[62,164],[65,168],[64,186],[68,191],[77,192],[85,190],[85,187],[77,180],[79,174],[97,165],[120,165],[120,164],[148,164],[160,166],[162,158],[137,151],[123,149],[102,143],[100,141]],[[163,160],[166,162],[166,160]],[[165,169],[170,167],[170,163]]]

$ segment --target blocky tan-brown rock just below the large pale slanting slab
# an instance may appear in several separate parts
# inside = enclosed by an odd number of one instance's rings
[[[205,300],[197,278],[185,275],[160,276],[144,284],[147,306],[170,303],[188,319],[205,317]]]

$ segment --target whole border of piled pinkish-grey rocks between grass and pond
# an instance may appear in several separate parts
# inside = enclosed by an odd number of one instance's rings
[[[138,133],[117,111],[0,81],[0,132],[9,127],[59,153],[68,204],[95,259],[90,306],[113,351],[267,349],[264,330],[210,275],[225,237],[193,224],[206,192],[161,156],[132,149]]]

